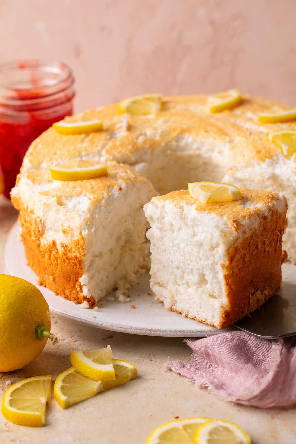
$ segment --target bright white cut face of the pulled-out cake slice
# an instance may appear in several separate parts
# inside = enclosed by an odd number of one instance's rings
[[[151,225],[146,236],[154,293],[167,309],[218,324],[222,307],[227,309],[220,264],[234,240],[229,223],[168,201],[154,200],[144,211]]]

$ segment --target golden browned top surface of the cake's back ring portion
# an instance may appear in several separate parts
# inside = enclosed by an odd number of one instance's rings
[[[49,128],[36,139],[27,155],[23,170],[60,162],[60,159],[108,159],[133,162],[133,156],[149,148],[154,150],[178,135],[213,143],[229,143],[232,163],[263,161],[279,148],[267,140],[267,132],[294,129],[296,122],[260,124],[258,115],[289,109],[273,100],[244,96],[243,103],[232,110],[209,113],[213,96],[168,97],[161,111],[153,115],[118,114],[118,104],[85,111],[66,120],[100,119],[104,130],[89,135],[60,135]]]

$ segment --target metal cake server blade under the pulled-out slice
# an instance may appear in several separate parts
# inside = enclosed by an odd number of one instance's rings
[[[296,335],[296,285],[282,282],[269,301],[233,326],[267,339]]]

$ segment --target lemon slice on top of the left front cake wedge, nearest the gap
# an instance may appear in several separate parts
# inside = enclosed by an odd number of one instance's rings
[[[60,181],[96,179],[108,175],[108,168],[91,160],[70,160],[50,169],[51,178]]]

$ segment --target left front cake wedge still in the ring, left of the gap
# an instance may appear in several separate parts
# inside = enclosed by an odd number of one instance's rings
[[[21,174],[12,202],[39,283],[91,306],[113,289],[120,296],[147,268],[143,205],[155,194],[149,180],[116,162],[89,180],[53,180],[48,169]]]

